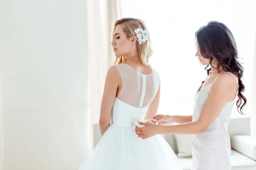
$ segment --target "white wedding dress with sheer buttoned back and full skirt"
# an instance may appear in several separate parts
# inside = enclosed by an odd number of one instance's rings
[[[140,74],[126,64],[115,65],[123,82],[115,99],[112,123],[79,170],[182,170],[161,135],[141,139],[135,133],[159,88],[159,75]]]

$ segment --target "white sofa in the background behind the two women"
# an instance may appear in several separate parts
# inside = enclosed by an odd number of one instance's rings
[[[228,132],[231,139],[231,170],[256,170],[256,139],[250,136],[250,118],[233,118],[228,125]],[[172,134],[163,135],[175,153],[178,153],[175,136]],[[94,147],[101,138],[99,124],[93,125]],[[189,142],[185,142],[189,144]],[[189,147],[189,146],[187,146]],[[178,158],[183,170],[191,170],[192,157]]]

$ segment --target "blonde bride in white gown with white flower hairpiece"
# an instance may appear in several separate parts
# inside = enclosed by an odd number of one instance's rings
[[[138,121],[156,115],[160,98],[160,77],[148,64],[152,49],[145,23],[117,20],[112,46],[116,61],[102,97],[102,139],[79,170],[182,170],[162,136],[143,140],[134,131]]]

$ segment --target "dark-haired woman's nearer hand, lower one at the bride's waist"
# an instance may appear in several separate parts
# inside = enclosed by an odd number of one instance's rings
[[[157,127],[159,125],[154,125],[152,123],[147,122],[138,122],[140,125],[143,125],[144,127],[138,127],[135,128],[135,133],[138,135],[139,138],[147,139],[151,136],[157,135]]]

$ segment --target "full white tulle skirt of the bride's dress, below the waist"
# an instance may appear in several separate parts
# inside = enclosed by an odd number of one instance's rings
[[[141,139],[132,126],[111,124],[79,170],[182,170],[161,135]]]

